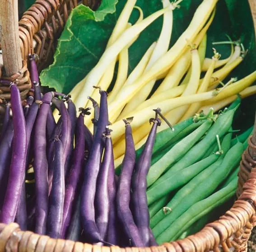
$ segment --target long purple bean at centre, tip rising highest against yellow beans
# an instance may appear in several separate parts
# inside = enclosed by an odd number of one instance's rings
[[[103,152],[102,133],[108,124],[107,112],[107,93],[100,90],[100,112],[97,131],[93,139],[93,145],[84,167],[84,183],[81,191],[81,220],[85,237],[93,243],[102,242],[98,227],[95,223],[94,198],[96,183],[100,169],[101,157]]]

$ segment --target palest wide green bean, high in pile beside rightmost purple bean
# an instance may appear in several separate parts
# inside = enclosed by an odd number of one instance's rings
[[[148,187],[153,184],[163,172],[180,159],[202,137],[211,126],[212,121],[205,121],[200,127],[175,144],[158,162],[150,167],[147,175]],[[185,148],[186,146],[186,148]]]

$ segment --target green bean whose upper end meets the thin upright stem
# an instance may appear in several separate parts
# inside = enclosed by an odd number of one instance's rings
[[[200,171],[204,170],[206,167],[214,163],[218,158],[218,154],[212,154],[209,157],[206,157],[205,159],[186,167],[182,171],[177,171],[171,177],[162,181],[156,186],[152,184],[147,190],[148,204],[152,204],[159,198],[170,193],[172,190],[175,190],[180,186],[186,184],[189,180],[199,174]]]

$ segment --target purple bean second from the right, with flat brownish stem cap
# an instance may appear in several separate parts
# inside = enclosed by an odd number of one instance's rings
[[[131,176],[135,166],[135,146],[132,138],[130,122],[132,118],[124,120],[126,123],[126,151],[122,162],[122,170],[119,176],[119,183],[116,193],[117,216],[120,220],[127,239],[130,240],[132,246],[144,247],[144,243],[140,236],[139,229],[135,225],[132,212],[130,211],[130,184]]]

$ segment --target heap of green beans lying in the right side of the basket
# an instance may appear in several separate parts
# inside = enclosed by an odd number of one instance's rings
[[[234,134],[238,106],[235,101],[217,119],[202,117],[195,123],[190,118],[176,125],[183,127],[179,132],[166,130],[157,135],[147,199],[150,227],[158,244],[199,231],[213,211],[235,195],[239,162],[253,130]]]

